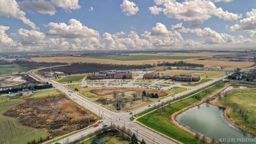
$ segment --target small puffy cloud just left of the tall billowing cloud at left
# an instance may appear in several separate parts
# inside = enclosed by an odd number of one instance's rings
[[[40,31],[35,30],[27,30],[27,29],[19,29],[18,37],[20,37],[20,41],[25,45],[38,45],[44,43],[45,34]]]

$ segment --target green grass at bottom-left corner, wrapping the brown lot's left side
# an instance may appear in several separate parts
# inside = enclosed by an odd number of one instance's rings
[[[46,137],[44,130],[22,126],[16,118],[5,117],[3,113],[10,108],[24,102],[22,99],[0,102],[0,143],[27,143],[33,139]]]

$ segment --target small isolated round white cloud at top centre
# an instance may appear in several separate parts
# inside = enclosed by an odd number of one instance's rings
[[[135,15],[139,11],[139,7],[137,7],[136,3],[128,0],[122,1],[122,4],[120,5],[120,9],[122,9],[122,12],[126,16]]]

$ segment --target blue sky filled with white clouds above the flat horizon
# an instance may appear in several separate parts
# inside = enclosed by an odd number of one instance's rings
[[[0,52],[255,44],[255,0],[0,0]]]

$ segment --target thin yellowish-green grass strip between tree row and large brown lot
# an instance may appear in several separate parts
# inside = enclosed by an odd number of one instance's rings
[[[54,96],[54,95],[58,95],[58,94],[63,94],[62,92],[60,92],[60,90],[39,90],[39,91],[35,91],[33,92],[33,94],[27,98],[40,98],[40,97],[45,97],[45,96]]]

